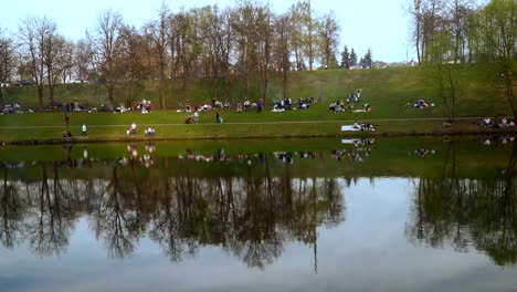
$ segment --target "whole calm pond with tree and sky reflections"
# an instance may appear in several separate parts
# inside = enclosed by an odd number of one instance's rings
[[[513,137],[0,148],[1,291],[510,291]]]

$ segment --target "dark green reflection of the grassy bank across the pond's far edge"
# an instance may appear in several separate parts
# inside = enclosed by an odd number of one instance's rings
[[[146,154],[144,144],[135,143],[138,157]],[[513,144],[498,144],[486,146],[478,137],[462,137],[455,142],[444,142],[439,137],[378,137],[371,145],[356,148],[350,144],[341,144],[339,138],[329,139],[271,139],[249,143],[240,140],[189,140],[189,142],[158,142],[152,153],[155,165],[146,171],[150,176],[184,176],[187,169],[192,176],[246,176],[250,169],[256,175],[264,176],[266,170],[273,177],[289,175],[292,177],[339,177],[346,180],[361,177],[458,177],[458,178],[499,178],[502,170],[508,165],[511,157]],[[365,148],[369,148],[369,155],[365,156]],[[82,159],[84,149],[87,149],[92,163],[82,163],[82,167],[73,173],[63,171],[66,176],[80,176],[84,171],[95,173],[94,177],[109,176],[105,171],[105,161],[108,164],[122,157],[130,157],[125,143],[73,145],[70,148],[71,159]],[[430,154],[421,156],[418,150],[428,149]],[[200,154],[202,156],[217,156],[222,154],[219,163],[204,160],[179,159],[187,154]],[[334,150],[357,153],[362,155],[362,161],[355,161],[344,156],[338,160],[333,156]],[[432,150],[432,153],[431,153]],[[284,164],[275,158],[273,153],[287,153],[293,156],[293,165]],[[300,153],[310,152],[314,158],[302,158]],[[240,161],[239,154],[252,157],[253,163],[247,164],[247,158]],[[258,154],[264,154],[262,161]],[[22,171],[32,179],[40,179],[41,164],[52,166],[57,161],[67,159],[67,149],[61,145],[33,146],[4,146],[0,147],[0,160],[25,161],[25,167],[32,171]],[[32,161],[36,161],[30,166]],[[118,164],[118,163],[116,163]],[[135,167],[144,168],[139,160],[131,163]],[[454,166],[455,174],[452,173]],[[61,166],[67,169],[67,165]],[[60,167],[60,168],[61,168]],[[97,170],[95,170],[97,169]],[[22,174],[15,169],[9,170],[9,175]]]

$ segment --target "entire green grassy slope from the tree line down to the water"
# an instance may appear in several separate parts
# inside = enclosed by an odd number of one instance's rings
[[[465,84],[463,94],[458,100],[457,116],[494,116],[507,115],[509,111],[506,101],[497,96],[483,85],[473,69],[463,72]],[[203,104],[209,101],[210,84],[199,80],[192,83],[186,97],[192,104]],[[238,114],[232,111],[223,111],[224,125],[214,124],[213,112],[201,113],[201,125],[184,125],[187,114],[176,111],[157,111],[148,115],[138,113],[112,114],[112,113],[72,113],[72,133],[80,134],[83,123],[88,125],[91,140],[125,139],[126,127],[135,122],[140,126],[152,125],[157,129],[157,138],[209,138],[209,137],[283,137],[283,136],[314,136],[314,135],[339,135],[339,126],[349,124],[355,119],[374,121],[378,133],[443,133],[441,121],[400,121],[381,122],[383,118],[424,118],[444,117],[445,111],[439,97],[436,86],[432,79],[421,67],[399,67],[368,71],[329,70],[316,72],[293,72],[289,80],[288,95],[296,100],[305,96],[318,96],[321,92],[323,103],[312,106],[309,111],[291,111],[285,113],[262,114],[254,112]],[[238,81],[231,84],[238,87]],[[351,92],[361,88],[363,91],[362,102],[356,104],[361,106],[368,102],[372,106],[369,113],[329,113],[327,105],[334,100],[344,100]],[[134,90],[134,98],[151,100],[155,105],[159,104],[156,83],[145,82]],[[270,102],[279,98],[282,87],[277,81],[270,86]],[[128,96],[128,88],[122,87],[116,96],[124,101]],[[239,90],[232,91],[232,102],[238,102],[238,96],[244,93]],[[168,94],[167,104],[177,105],[179,95]],[[184,96],[184,95],[183,95]],[[260,97],[253,92],[251,98]],[[184,97],[181,97],[184,98]],[[407,107],[407,103],[413,103],[424,98],[436,104],[434,107],[415,109]],[[106,101],[104,88],[93,84],[68,84],[56,88],[57,101],[78,101],[83,104],[99,107],[99,103]],[[25,108],[36,106],[34,87],[8,88],[6,103],[15,102]],[[277,124],[277,122],[325,122],[308,124]],[[250,124],[241,124],[250,123]],[[261,125],[254,123],[262,123]],[[110,125],[110,126],[106,126]],[[23,128],[17,128],[22,126]],[[30,139],[60,139],[60,133],[64,128],[62,112],[41,114],[20,114],[0,116],[0,140],[15,142]],[[481,131],[471,122],[458,123],[446,132],[471,132]],[[354,133],[357,134],[357,133]],[[141,137],[141,135],[139,135]]]

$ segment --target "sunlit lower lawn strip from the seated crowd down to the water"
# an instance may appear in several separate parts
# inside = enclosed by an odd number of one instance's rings
[[[414,109],[419,111],[419,109]],[[144,128],[156,129],[154,139],[212,139],[212,138],[278,138],[278,137],[337,137],[337,136],[400,136],[400,135],[456,135],[515,132],[515,128],[492,129],[477,125],[477,119],[457,121],[443,127],[444,119],[402,118],[381,119],[370,113],[328,113],[326,104],[317,104],[308,111],[285,113],[255,112],[234,113],[222,111],[225,123],[214,123],[214,113],[201,113],[200,124],[186,125],[184,113],[155,112],[124,114],[72,113],[71,142],[141,140]],[[424,113],[424,112],[423,112]],[[340,126],[363,121],[374,124],[376,132],[341,132]],[[126,128],[138,125],[138,134],[126,137]],[[81,137],[81,125],[88,127],[88,137]],[[0,116],[0,142],[2,143],[65,143],[61,133],[65,129],[63,113],[36,113]]]

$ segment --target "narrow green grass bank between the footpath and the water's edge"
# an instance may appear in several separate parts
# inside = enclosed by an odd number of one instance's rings
[[[43,114],[44,115],[44,114]],[[114,115],[120,118],[122,115]],[[78,116],[73,116],[77,118]],[[98,124],[97,114],[88,115],[87,136],[82,136],[82,124],[70,126],[23,125],[0,126],[2,145],[49,145],[71,143],[107,142],[159,142],[159,140],[203,140],[203,139],[265,139],[265,138],[329,138],[329,137],[402,137],[402,136],[465,136],[465,135],[515,135],[517,126],[490,128],[479,125],[478,117],[458,118],[453,124],[446,118],[398,118],[362,119],[372,124],[374,131],[341,131],[344,125],[352,125],[355,119],[341,121],[287,121],[287,122],[234,122],[215,124],[204,121],[202,124],[181,123],[136,123],[137,134],[127,136],[127,124]],[[130,119],[128,119],[130,121]],[[25,122],[28,122],[25,119]],[[120,122],[120,121],[118,121]],[[86,124],[86,122],[85,122]],[[145,136],[144,131],[151,127],[154,136]],[[62,131],[71,131],[71,138],[63,138]],[[253,142],[254,143],[254,142]]]

